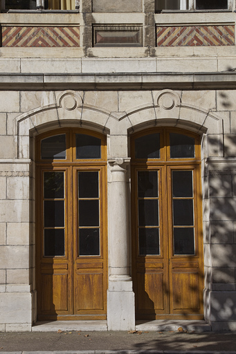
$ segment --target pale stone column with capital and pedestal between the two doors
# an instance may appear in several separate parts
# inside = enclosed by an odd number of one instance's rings
[[[134,292],[129,275],[129,233],[126,165],[129,158],[109,160],[111,203],[109,234],[109,287],[107,291],[108,330],[135,328]]]

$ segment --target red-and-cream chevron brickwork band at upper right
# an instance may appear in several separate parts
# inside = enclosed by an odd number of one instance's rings
[[[235,26],[157,26],[156,46],[234,46]]]

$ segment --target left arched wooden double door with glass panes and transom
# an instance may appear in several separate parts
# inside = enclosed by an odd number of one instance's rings
[[[37,318],[106,319],[106,139],[57,129],[36,140]]]

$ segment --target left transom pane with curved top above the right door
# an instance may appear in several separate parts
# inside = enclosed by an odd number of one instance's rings
[[[136,158],[160,158],[160,134],[149,134],[135,140]]]

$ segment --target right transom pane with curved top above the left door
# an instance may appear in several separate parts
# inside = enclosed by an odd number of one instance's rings
[[[101,158],[101,139],[76,134],[76,158]]]

